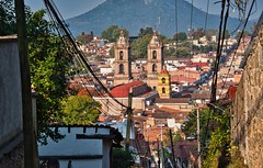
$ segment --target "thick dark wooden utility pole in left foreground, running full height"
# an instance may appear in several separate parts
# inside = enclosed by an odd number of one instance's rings
[[[22,87],[22,113],[23,113],[23,138],[24,138],[24,167],[36,168],[36,141],[33,123],[30,63],[27,55],[27,35],[25,24],[24,1],[15,0],[15,15],[18,23],[18,42],[20,56],[20,74]]]

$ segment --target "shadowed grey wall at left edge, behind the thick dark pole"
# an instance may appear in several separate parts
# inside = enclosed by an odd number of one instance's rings
[[[0,37],[0,115],[1,157],[7,144],[22,135],[22,97],[16,36]]]

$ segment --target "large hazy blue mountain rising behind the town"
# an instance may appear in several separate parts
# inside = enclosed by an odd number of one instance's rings
[[[185,0],[178,0],[178,29],[187,32],[191,26],[192,4]],[[206,13],[193,8],[192,27],[205,26]],[[220,16],[208,14],[207,29],[218,29]],[[172,37],[175,34],[175,4],[174,0],[106,0],[93,10],[81,15],[68,19],[69,29],[73,35],[81,32],[101,32],[112,24],[125,27],[129,35],[138,35],[141,27],[152,27],[160,34]],[[229,18],[228,30],[231,32],[239,25],[239,20]],[[250,27],[251,23],[248,24]]]

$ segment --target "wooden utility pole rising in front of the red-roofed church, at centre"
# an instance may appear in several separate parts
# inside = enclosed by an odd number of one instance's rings
[[[129,149],[129,136],[130,136],[130,126],[132,126],[132,116],[133,116],[133,109],[132,109],[132,105],[133,105],[133,90],[130,88],[129,90],[129,94],[128,94],[128,108],[127,108],[127,127],[126,127],[126,144],[125,144],[125,147],[126,147],[126,150],[128,152]]]

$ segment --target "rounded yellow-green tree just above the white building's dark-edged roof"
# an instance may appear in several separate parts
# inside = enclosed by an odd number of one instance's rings
[[[91,124],[99,119],[101,104],[84,96],[71,96],[62,102],[62,122],[66,125]]]

